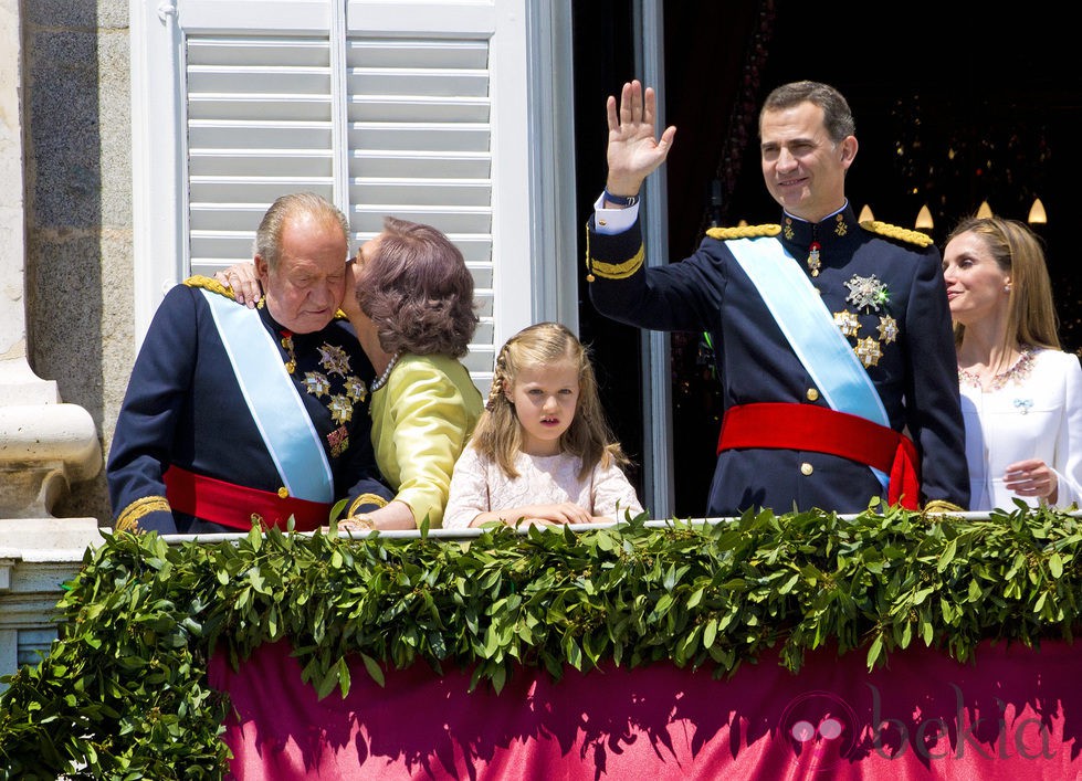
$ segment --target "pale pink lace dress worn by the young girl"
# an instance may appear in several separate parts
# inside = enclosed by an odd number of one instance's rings
[[[443,514],[444,529],[464,529],[481,513],[525,505],[549,505],[574,502],[591,515],[623,520],[624,510],[632,517],[642,513],[634,487],[616,464],[593,467],[585,481],[579,479],[581,462],[567,454],[534,456],[519,453],[515,458],[518,477],[510,478],[495,462],[466,446],[454,474]]]

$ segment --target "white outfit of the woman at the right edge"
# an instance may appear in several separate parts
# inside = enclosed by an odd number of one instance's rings
[[[1040,458],[1059,478],[1055,507],[1082,503],[1082,368],[1070,352],[1027,348],[987,391],[958,371],[969,462],[969,509],[1015,509],[1008,464]]]

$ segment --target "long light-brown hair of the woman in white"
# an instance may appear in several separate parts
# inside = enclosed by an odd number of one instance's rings
[[[980,236],[999,268],[1010,275],[1004,360],[1018,345],[1060,349],[1059,321],[1052,303],[1052,283],[1041,241],[1025,223],[998,217],[967,218],[947,236],[947,244],[963,233]],[[954,326],[955,346],[962,345],[966,327]],[[999,367],[997,367],[998,369]]]

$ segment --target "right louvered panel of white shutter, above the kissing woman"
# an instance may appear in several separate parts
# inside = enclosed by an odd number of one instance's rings
[[[492,125],[486,40],[348,40],[350,224],[385,214],[439,228],[474,276],[481,324],[464,362],[492,371]]]

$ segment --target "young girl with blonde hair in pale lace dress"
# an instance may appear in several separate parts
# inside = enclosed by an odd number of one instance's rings
[[[639,515],[626,463],[586,348],[557,323],[529,326],[496,358],[485,412],[454,466],[443,528]]]

